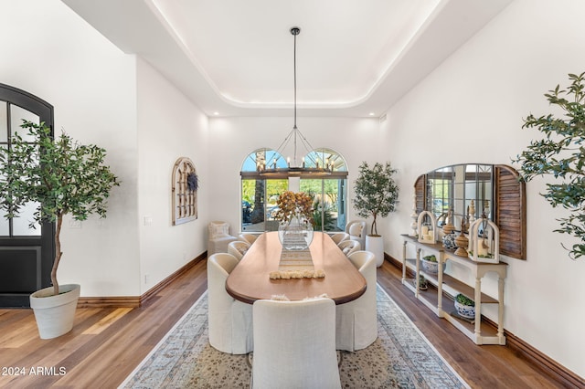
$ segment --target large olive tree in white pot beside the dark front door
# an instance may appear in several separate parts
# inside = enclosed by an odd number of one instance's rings
[[[79,285],[59,286],[57,281],[63,216],[86,220],[95,213],[105,217],[110,191],[120,183],[103,164],[104,149],[74,142],[65,132],[54,140],[43,122],[23,121],[21,127],[33,141],[24,141],[16,133],[9,148],[0,148],[0,209],[13,218],[23,207],[37,204],[31,226],[56,224],[52,287],[30,296],[40,338],[50,339],[72,329],[80,296]]]

